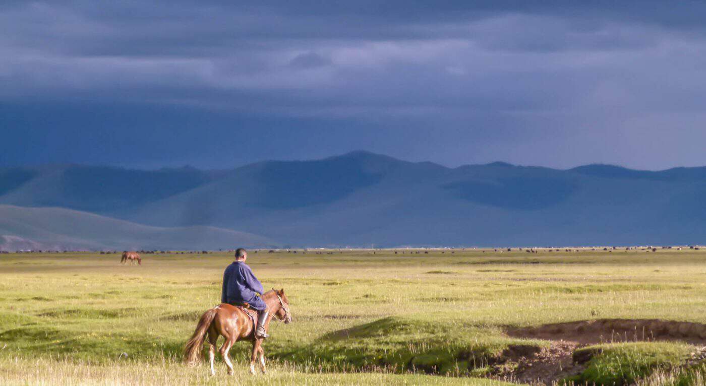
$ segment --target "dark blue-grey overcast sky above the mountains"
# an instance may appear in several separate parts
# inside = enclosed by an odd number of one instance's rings
[[[152,3],[0,3],[0,165],[706,165],[703,1]]]

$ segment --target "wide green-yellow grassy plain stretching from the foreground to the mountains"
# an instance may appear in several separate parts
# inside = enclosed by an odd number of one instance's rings
[[[480,377],[512,374],[517,363],[498,360],[508,348],[552,344],[506,328],[706,323],[703,251],[414,251],[251,253],[265,287],[287,292],[294,322],[270,330],[268,375],[246,375],[241,343],[231,351],[241,371],[227,378],[219,362],[215,379],[179,359],[198,317],[218,303],[228,253],[145,255],[142,266],[97,253],[0,255],[0,371],[20,384],[496,385]],[[703,366],[687,363],[693,344],[598,346],[583,349],[595,354],[570,379],[690,385],[701,376]]]

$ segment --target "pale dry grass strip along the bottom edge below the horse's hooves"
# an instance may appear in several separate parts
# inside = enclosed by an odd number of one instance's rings
[[[291,363],[270,363],[266,375],[251,375],[245,366],[236,366],[234,375],[226,375],[220,369],[212,377],[205,365],[190,368],[164,356],[146,362],[128,358],[97,364],[0,355],[0,368],[4,385],[511,385],[496,380],[421,374],[324,373],[312,366]]]

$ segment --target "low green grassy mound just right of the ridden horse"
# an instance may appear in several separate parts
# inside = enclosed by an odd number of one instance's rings
[[[330,332],[283,358],[332,371],[387,368],[469,375],[514,342],[499,331],[489,334],[488,329],[454,320],[388,317]]]

